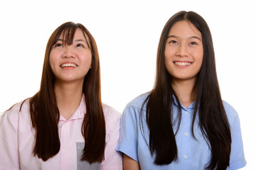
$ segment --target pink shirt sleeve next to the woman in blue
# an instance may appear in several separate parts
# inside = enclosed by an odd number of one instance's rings
[[[112,109],[106,119],[106,121],[109,121],[107,129],[111,130],[106,132],[107,145],[105,147],[105,160],[102,162],[102,170],[122,170],[122,155],[115,151],[119,140],[120,118],[121,114]]]

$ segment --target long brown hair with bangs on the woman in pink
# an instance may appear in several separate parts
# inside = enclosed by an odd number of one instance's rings
[[[86,114],[82,122],[81,132],[85,139],[81,160],[87,162],[102,162],[105,152],[105,118],[102,110],[100,90],[100,60],[95,39],[80,23],[67,22],[56,28],[50,35],[46,46],[43,62],[41,88],[30,98],[30,113],[33,128],[36,130],[36,144],[33,154],[43,161],[58,154],[60,138],[58,135],[58,122],[60,112],[55,98],[55,76],[50,68],[50,51],[57,42],[61,33],[65,36],[63,43],[71,45],[75,30],[80,29],[85,36],[92,52],[91,69],[85,75],[82,93],[85,94]]]

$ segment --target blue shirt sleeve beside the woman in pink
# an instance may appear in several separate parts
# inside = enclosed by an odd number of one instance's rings
[[[139,113],[139,109],[131,104],[128,104],[124,109],[121,118],[120,137],[116,150],[127,154],[127,156],[139,162],[137,113]]]

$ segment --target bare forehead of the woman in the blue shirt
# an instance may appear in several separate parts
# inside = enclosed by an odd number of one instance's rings
[[[193,37],[199,36],[201,38],[201,32],[189,21],[178,21],[171,27],[169,35],[175,35],[178,37]]]

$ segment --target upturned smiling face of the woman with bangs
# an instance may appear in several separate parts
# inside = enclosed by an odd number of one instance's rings
[[[63,34],[50,51],[50,67],[55,83],[84,80],[92,62],[92,52],[79,28],[75,30],[73,44],[63,44]]]

